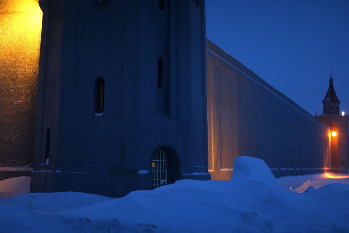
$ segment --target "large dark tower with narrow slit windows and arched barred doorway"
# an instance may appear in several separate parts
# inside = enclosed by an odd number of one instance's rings
[[[205,1],[41,7],[31,192],[120,197],[210,179]]]

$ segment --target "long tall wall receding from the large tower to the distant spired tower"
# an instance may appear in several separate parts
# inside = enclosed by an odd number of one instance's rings
[[[230,180],[234,159],[263,159],[276,177],[331,168],[331,136],[295,102],[206,40],[209,173]]]

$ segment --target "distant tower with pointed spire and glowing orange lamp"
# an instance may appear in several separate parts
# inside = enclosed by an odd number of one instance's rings
[[[333,87],[332,74],[329,87],[322,101],[323,115],[316,115],[323,124],[331,129],[331,163],[336,173],[348,173],[348,115],[340,114],[340,101]]]

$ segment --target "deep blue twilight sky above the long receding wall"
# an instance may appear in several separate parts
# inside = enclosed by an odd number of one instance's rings
[[[312,115],[332,70],[349,114],[348,0],[206,0],[206,36]]]

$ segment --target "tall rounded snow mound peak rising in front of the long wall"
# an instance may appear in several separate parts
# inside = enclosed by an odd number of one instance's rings
[[[265,162],[258,158],[239,156],[234,160],[233,181],[255,180],[267,184],[276,184],[275,177]]]

